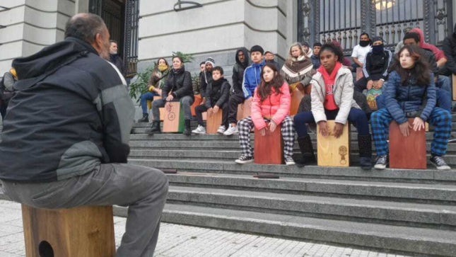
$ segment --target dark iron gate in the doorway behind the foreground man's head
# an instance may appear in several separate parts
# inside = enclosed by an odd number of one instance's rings
[[[136,74],[138,63],[139,0],[90,0],[90,13],[105,21],[111,39],[118,42],[119,56],[124,59],[127,76]]]

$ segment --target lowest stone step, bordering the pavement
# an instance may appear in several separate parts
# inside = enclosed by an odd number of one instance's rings
[[[127,217],[127,208],[115,207],[115,215]],[[161,220],[197,227],[389,249],[426,256],[454,256],[456,247],[456,232],[452,231],[217,207],[166,204]]]

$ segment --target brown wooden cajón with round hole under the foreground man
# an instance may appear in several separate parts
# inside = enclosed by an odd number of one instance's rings
[[[112,206],[45,210],[22,205],[27,257],[114,257]]]

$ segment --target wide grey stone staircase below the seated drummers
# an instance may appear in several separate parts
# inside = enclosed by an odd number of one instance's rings
[[[456,256],[456,169],[363,171],[356,166],[355,128],[351,167],[298,168],[235,164],[237,135],[148,136],[148,126],[135,124],[129,162],[179,171],[168,175],[163,222],[415,256]],[[315,134],[311,137],[315,142]],[[429,149],[432,132],[426,139]],[[299,158],[297,143],[294,148]],[[456,167],[456,144],[449,144],[445,160]],[[280,178],[253,178],[258,172]],[[116,213],[124,216],[127,210],[120,207]]]

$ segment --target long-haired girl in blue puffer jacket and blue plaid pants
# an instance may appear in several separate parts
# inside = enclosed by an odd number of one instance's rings
[[[376,111],[370,117],[373,129],[377,163],[375,169],[385,169],[388,164],[388,144],[385,131],[394,119],[404,137],[409,130],[424,130],[424,122],[435,127],[431,144],[431,163],[439,170],[450,169],[442,156],[445,155],[451,133],[451,115],[448,110],[435,107],[434,76],[420,50],[405,46],[397,54],[385,91],[387,108]],[[407,118],[414,118],[412,124]]]

